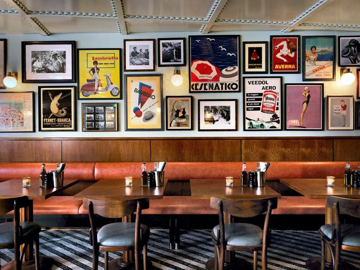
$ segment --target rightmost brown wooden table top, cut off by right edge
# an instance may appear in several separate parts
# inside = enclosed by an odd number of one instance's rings
[[[344,187],[343,179],[335,179],[335,186],[326,186],[324,179],[280,179],[280,182],[301,195],[312,199],[326,198],[326,196],[342,196],[348,198],[360,198],[360,188]]]

